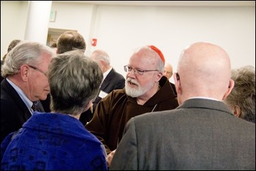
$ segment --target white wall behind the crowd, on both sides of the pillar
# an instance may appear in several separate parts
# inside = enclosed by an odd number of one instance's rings
[[[1,56],[12,39],[24,35],[24,29],[17,23],[25,20],[18,12],[24,16],[26,10],[25,5],[8,3],[9,10],[2,14],[2,5],[6,3],[1,1]],[[10,16],[12,10],[18,11],[16,16]],[[124,76],[123,66],[141,45],[156,45],[174,71],[181,50],[196,41],[220,45],[230,54],[232,68],[255,66],[255,7],[133,7],[53,2],[52,10],[57,14],[56,22],[49,23],[50,28],[77,30],[88,44],[86,54],[94,49],[106,50],[113,67]],[[98,39],[96,47],[90,45],[92,38]]]

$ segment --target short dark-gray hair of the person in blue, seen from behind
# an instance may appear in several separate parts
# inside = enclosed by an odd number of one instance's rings
[[[48,78],[50,109],[75,115],[84,112],[90,100],[98,95],[103,73],[84,52],[73,50],[52,59]]]

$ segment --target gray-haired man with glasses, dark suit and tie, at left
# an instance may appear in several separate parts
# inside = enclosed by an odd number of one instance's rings
[[[54,55],[47,45],[29,41],[7,54],[1,69],[1,142],[21,128],[33,110],[44,111],[39,100],[50,92],[46,73]]]

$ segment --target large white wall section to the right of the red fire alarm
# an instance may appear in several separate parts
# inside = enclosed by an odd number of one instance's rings
[[[223,47],[232,67],[255,65],[255,7],[98,7],[95,36],[125,74],[134,48],[153,44],[174,71],[181,50],[196,41]],[[116,60],[115,60],[116,59]]]

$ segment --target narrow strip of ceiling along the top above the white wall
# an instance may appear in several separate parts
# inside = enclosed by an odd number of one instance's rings
[[[255,7],[255,1],[53,1],[54,3],[88,3],[94,5],[132,5],[168,7]]]

